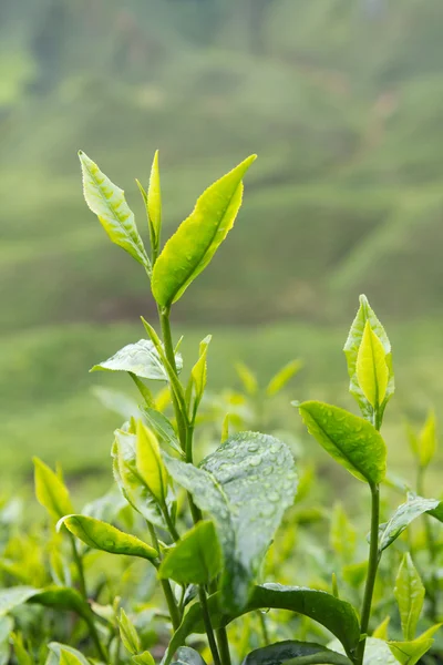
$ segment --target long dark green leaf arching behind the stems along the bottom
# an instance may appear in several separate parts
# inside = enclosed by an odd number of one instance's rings
[[[302,586],[264,584],[262,586],[255,586],[246,607],[234,613],[226,612],[220,601],[220,593],[216,593],[208,598],[210,618],[215,628],[226,626],[248,612],[274,608],[288,610],[317,621],[341,642],[349,656],[354,653],[360,640],[359,620],[352,605],[323,591]],[[167,647],[163,665],[171,663],[175,651],[190,633],[204,632],[205,624],[202,607],[196,603],[189,607],[175,632]]]

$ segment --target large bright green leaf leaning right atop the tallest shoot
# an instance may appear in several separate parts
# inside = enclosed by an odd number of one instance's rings
[[[167,241],[152,276],[153,295],[162,307],[178,300],[227,236],[241,205],[241,180],[255,158],[251,155],[210,185]]]

